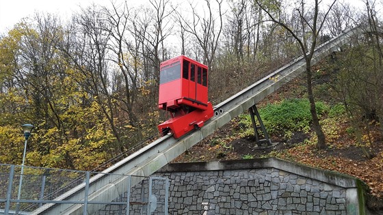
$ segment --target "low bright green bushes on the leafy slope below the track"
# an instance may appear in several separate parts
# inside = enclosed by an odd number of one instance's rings
[[[328,111],[323,102],[316,102],[317,113],[322,115]],[[310,104],[307,99],[289,99],[279,104],[267,104],[259,109],[259,114],[269,134],[285,134],[285,131],[308,132],[311,124]],[[246,125],[241,136],[254,134],[249,115],[241,116],[241,123]]]

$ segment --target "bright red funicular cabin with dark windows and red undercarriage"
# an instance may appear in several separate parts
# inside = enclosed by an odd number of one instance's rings
[[[207,76],[207,66],[183,55],[161,63],[158,107],[172,118],[159,124],[160,132],[171,130],[179,138],[213,117]]]

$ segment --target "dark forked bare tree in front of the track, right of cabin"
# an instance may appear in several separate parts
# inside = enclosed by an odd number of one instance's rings
[[[323,133],[323,130],[321,129],[321,125],[319,124],[319,118],[315,109],[315,98],[313,95],[313,71],[311,69],[311,59],[313,59],[313,54],[315,51],[315,47],[317,46],[317,39],[319,38],[319,33],[328,16],[328,13],[330,12],[335,2],[336,0],[332,1],[332,4],[328,7],[328,10],[326,10],[325,14],[321,16],[319,10],[319,3],[321,3],[321,1],[315,0],[313,7],[308,10],[306,10],[308,8],[307,3],[305,3],[303,0],[300,1],[298,3],[298,7],[295,8],[295,11],[298,12],[302,26],[300,26],[300,28],[297,29],[296,27],[289,26],[287,24],[285,17],[282,15],[280,3],[272,3],[271,5],[267,5],[263,1],[256,0],[256,3],[259,5],[259,7],[262,8],[263,11],[266,12],[270,20],[289,31],[289,33],[291,33],[293,38],[295,38],[295,40],[300,45],[302,54],[304,55],[304,59],[306,61],[307,94],[308,100],[310,102],[310,112],[311,117],[313,119],[313,127],[318,138],[317,147],[319,149],[326,148],[326,137]],[[277,8],[277,14],[272,13],[271,6]],[[308,28],[308,31],[306,31],[306,28]]]

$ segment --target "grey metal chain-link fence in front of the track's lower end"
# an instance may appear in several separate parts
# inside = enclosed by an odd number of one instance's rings
[[[21,175],[21,168],[0,164],[0,214],[168,214],[163,177],[37,167],[23,167]],[[97,188],[89,186],[96,181]],[[113,188],[118,197],[98,195],[100,188]],[[76,192],[83,195],[73,199]]]

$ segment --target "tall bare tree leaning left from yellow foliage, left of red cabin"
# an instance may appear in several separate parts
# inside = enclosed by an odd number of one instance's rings
[[[77,25],[75,36],[77,46],[72,46],[70,50],[63,48],[63,51],[72,59],[75,70],[85,76],[84,90],[88,91],[100,104],[114,137],[118,143],[121,143],[108,72],[107,52],[111,30],[107,18],[101,12],[101,8],[92,5],[75,16],[75,24]]]

